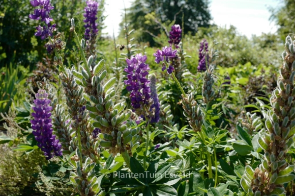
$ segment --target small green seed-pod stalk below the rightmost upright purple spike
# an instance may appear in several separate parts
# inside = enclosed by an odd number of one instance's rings
[[[205,72],[203,77],[203,88],[202,88],[202,96],[204,103],[208,104],[211,100],[213,100],[215,92],[213,89],[214,84],[214,65],[210,65],[208,70]]]

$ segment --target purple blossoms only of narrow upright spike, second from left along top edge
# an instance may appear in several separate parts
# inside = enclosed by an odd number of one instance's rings
[[[87,6],[84,8],[85,14],[84,17],[86,18],[83,22],[86,23],[84,25],[85,29],[85,39],[90,40],[93,39],[97,32],[97,23],[95,23],[97,17],[97,8],[98,8],[98,2],[94,0],[88,0]]]

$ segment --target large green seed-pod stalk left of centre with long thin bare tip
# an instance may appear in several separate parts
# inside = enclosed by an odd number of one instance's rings
[[[72,19],[72,24],[74,19]],[[79,41],[79,37],[72,25],[76,43],[79,46],[84,68],[79,72],[73,72],[76,76],[76,83],[85,88],[85,93],[89,97],[90,103],[86,106],[89,111],[92,125],[101,130],[100,146],[109,149],[114,156],[120,153],[130,168],[130,154],[132,149],[139,146],[139,129],[130,129],[131,121],[128,121],[131,114],[125,113],[125,101],[119,101],[114,104],[112,98],[116,91],[113,85],[116,83],[116,77],[107,82],[104,81],[107,71],[102,71],[104,65],[100,62],[92,69],[93,56],[88,61],[85,58],[84,51]]]

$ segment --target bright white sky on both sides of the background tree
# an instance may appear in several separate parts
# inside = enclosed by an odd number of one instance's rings
[[[133,0],[125,0],[125,6],[130,7]],[[210,12],[216,25],[234,25],[238,31],[247,37],[252,34],[261,35],[262,32],[275,32],[276,27],[269,22],[270,12],[267,7],[278,7],[279,0],[211,0]],[[124,13],[123,0],[106,0],[105,20],[107,27],[104,33],[118,35],[119,23]]]

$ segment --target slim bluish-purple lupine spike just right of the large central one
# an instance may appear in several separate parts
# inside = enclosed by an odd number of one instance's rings
[[[154,116],[150,119],[150,123],[158,123],[160,121],[160,101],[156,89],[156,76],[150,76],[150,97],[153,99],[153,104],[150,106],[150,111],[154,110]]]

